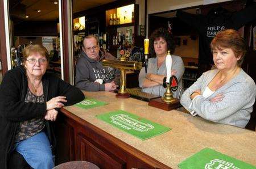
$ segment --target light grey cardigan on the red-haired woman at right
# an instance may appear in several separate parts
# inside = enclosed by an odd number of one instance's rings
[[[193,100],[190,95],[197,89],[202,92],[219,70],[209,70],[189,87],[181,96],[180,103],[189,112],[195,111],[204,119],[245,128],[250,120],[255,102],[256,86],[253,79],[241,69],[240,73],[216,90],[208,98],[199,95]],[[210,102],[217,94],[224,93],[220,102]],[[191,105],[191,106],[190,106]],[[190,108],[189,108],[190,106]]]

